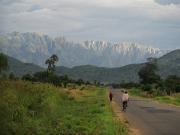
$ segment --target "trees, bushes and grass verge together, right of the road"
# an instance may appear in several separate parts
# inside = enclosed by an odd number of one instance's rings
[[[170,75],[162,79],[157,71],[156,59],[149,58],[145,66],[138,72],[140,78],[138,83],[122,82],[113,86],[129,89],[133,96],[153,98],[163,103],[180,105],[180,77]]]

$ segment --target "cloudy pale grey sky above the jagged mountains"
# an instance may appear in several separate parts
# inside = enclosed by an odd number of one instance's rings
[[[180,0],[0,0],[0,33],[180,48]]]

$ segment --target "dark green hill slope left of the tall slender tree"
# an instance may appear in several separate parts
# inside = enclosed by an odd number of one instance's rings
[[[9,68],[7,70],[8,73],[13,72],[16,76],[22,76],[24,74],[33,74],[38,71],[44,70],[44,68],[37,66],[32,63],[23,63],[15,58],[9,57],[8,58],[8,65]]]

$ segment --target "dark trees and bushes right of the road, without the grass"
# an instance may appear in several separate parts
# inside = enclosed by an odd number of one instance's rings
[[[171,95],[180,92],[180,77],[170,75],[166,79],[162,79],[157,71],[156,59],[149,58],[145,66],[138,72],[139,83],[121,82],[112,84],[112,86],[115,88],[138,88],[150,96]]]

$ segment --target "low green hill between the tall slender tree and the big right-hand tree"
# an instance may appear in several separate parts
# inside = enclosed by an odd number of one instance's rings
[[[83,79],[93,82],[94,80],[103,83],[119,83],[121,81],[138,81],[138,71],[142,64],[132,64],[121,68],[103,68],[90,65],[74,68],[57,67],[60,75],[68,75],[73,79]]]

